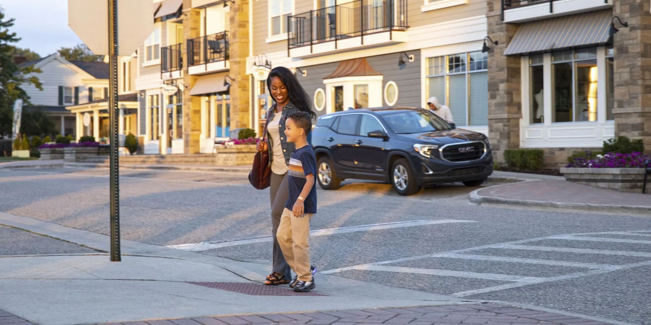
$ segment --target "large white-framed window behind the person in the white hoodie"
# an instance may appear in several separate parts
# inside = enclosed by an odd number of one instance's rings
[[[456,125],[488,125],[487,68],[480,51],[427,58],[426,97],[449,106]]]

